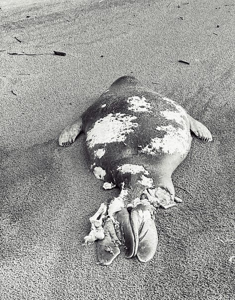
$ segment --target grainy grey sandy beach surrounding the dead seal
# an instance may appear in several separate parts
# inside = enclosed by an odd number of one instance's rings
[[[0,7],[0,299],[235,299],[233,1]],[[84,135],[66,149],[58,138],[122,75],[176,100],[214,140],[193,137],[173,174],[183,202],[158,210],[154,258],[105,267],[82,244],[118,190],[89,170]]]

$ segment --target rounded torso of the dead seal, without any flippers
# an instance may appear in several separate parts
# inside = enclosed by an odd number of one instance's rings
[[[95,176],[132,190],[137,182],[171,190],[171,175],[191,145],[185,110],[132,76],[118,78],[82,115],[82,124]]]

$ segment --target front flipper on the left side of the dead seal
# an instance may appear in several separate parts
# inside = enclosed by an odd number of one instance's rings
[[[71,145],[79,133],[82,131],[82,119],[79,118],[73,124],[67,126],[59,136],[59,146],[67,147]]]

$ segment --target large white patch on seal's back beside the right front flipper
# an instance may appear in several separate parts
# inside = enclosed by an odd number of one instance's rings
[[[157,155],[159,152],[168,154],[178,152],[182,157],[187,154],[191,141],[189,131],[181,128],[175,128],[172,125],[158,126],[156,129],[165,131],[165,136],[163,138],[153,138],[150,145],[143,148],[141,152],[152,155]]]

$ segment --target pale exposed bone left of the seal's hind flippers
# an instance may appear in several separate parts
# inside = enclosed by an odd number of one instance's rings
[[[97,239],[103,239],[105,237],[103,220],[107,214],[107,204],[102,203],[98,211],[89,220],[91,222],[91,231],[84,237],[84,245],[94,243]]]

